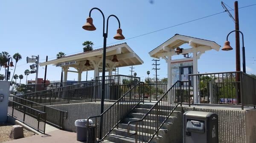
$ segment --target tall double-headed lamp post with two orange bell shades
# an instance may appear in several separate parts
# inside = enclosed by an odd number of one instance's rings
[[[113,14],[108,16],[107,27],[106,27],[106,31],[105,31],[105,16],[99,8],[92,8],[90,10],[89,17],[86,19],[86,23],[82,27],[84,30],[88,30],[88,31],[95,31],[96,30],[96,27],[93,25],[93,19],[91,17],[91,12],[94,9],[98,10],[102,14],[102,17],[103,17],[103,37],[104,37],[104,40],[103,40],[103,62],[102,62],[102,94],[101,94],[101,105],[100,105],[100,112],[103,113],[104,112],[104,97],[105,97],[106,47],[107,47],[107,37],[108,37],[108,20],[109,20],[110,17],[115,17],[116,20],[118,21],[118,25],[119,25],[119,28],[117,29],[117,33],[113,38],[117,39],[117,40],[122,40],[122,39],[125,39],[125,37],[122,35],[122,29],[120,28],[119,19]],[[100,130],[102,130],[102,119],[101,119],[101,124],[100,124]],[[101,136],[102,135],[101,135],[101,132],[100,132],[100,137]]]

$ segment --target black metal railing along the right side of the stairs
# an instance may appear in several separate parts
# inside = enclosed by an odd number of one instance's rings
[[[172,115],[176,107],[182,102],[182,81],[177,81],[172,87],[162,95],[162,97],[151,107],[151,109],[140,120],[128,123],[128,135],[135,135],[135,143],[149,143],[163,124]],[[135,125],[135,133],[130,133],[130,125]],[[147,138],[149,137],[149,140]]]

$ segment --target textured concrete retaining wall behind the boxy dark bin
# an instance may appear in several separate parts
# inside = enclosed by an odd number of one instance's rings
[[[256,109],[183,107],[183,113],[186,111],[218,114],[219,143],[256,143]]]

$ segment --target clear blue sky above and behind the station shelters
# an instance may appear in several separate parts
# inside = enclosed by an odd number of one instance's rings
[[[233,0],[224,0],[233,8]],[[240,0],[239,7],[256,4],[255,0]],[[93,7],[102,9],[105,16],[115,14],[119,17],[124,36],[128,39],[158,29],[177,25],[210,14],[224,11],[219,0],[0,0],[0,52],[7,51],[10,55],[18,52],[23,59],[17,63],[16,74],[23,74],[29,69],[26,56],[40,55],[40,62],[55,59],[56,53],[62,51],[67,55],[81,52],[84,41],[92,41],[94,48],[101,48],[102,16],[93,11],[93,23],[96,31],[84,31],[81,27]],[[231,11],[233,14],[233,11]],[[247,73],[256,74],[256,6],[239,9],[240,30],[244,33],[246,49]],[[112,37],[118,24],[115,19],[109,22],[108,43],[118,42]],[[163,31],[158,31],[134,39],[128,39],[127,44],[143,59],[143,65],[137,65],[137,76],[147,76],[151,71],[151,57],[148,52],[165,42],[174,34],[194,36],[209,39],[223,45],[227,34],[234,30],[234,22],[227,13],[189,22]],[[230,35],[231,46],[235,48],[235,34]],[[121,43],[121,42],[120,42]],[[160,78],[167,77],[167,64],[160,60]],[[207,51],[198,61],[200,73],[235,71],[235,50]],[[47,67],[47,79],[60,80],[61,68]],[[119,68],[119,73],[128,75],[129,67]],[[11,70],[12,72],[13,70]],[[4,73],[4,70],[0,71]],[[39,68],[40,78],[44,77],[44,67]],[[93,71],[88,72],[88,79],[93,77]],[[86,72],[82,74],[85,80]],[[35,79],[35,74],[28,76]],[[68,80],[77,80],[76,73],[69,73]],[[25,83],[23,79],[21,81]]]

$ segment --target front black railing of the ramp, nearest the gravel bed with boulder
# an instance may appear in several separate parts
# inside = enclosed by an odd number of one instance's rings
[[[46,113],[32,107],[9,101],[8,114],[26,125],[45,133]]]

